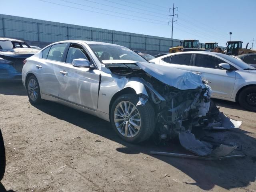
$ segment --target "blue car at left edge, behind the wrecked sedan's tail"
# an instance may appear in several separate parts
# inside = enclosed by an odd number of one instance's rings
[[[0,81],[21,80],[23,61],[38,51],[24,41],[0,38]]]

